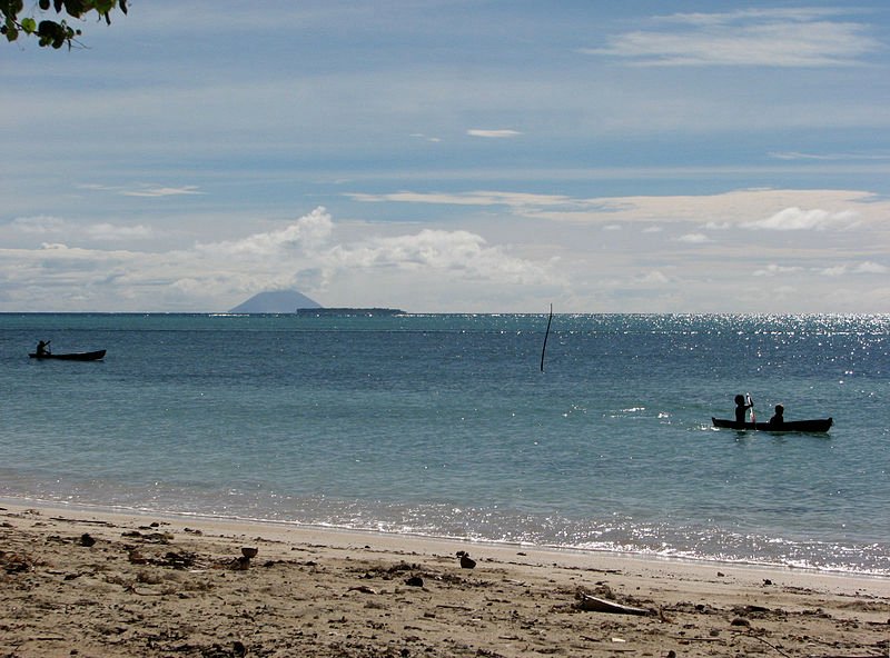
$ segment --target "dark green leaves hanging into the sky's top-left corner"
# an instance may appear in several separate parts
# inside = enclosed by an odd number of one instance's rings
[[[42,14],[49,14],[52,9],[57,14],[68,14],[81,19],[90,12],[96,12],[111,24],[111,11],[116,8],[127,13],[127,0],[39,0],[38,7]],[[58,20],[43,19],[38,22],[33,16],[21,16],[24,12],[23,0],[0,0],[0,33],[7,41],[16,41],[20,34],[36,37],[41,47],[68,48],[76,42],[80,30],[68,24],[65,18]]]

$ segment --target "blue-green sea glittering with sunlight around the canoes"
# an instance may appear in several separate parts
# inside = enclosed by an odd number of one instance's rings
[[[890,316],[546,325],[0,315],[0,496],[890,575]]]

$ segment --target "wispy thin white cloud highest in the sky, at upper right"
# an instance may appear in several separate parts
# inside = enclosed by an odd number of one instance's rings
[[[837,10],[775,9],[678,13],[661,29],[613,36],[582,52],[644,66],[824,67],[859,63],[880,43]],[[670,28],[670,29],[669,29]]]

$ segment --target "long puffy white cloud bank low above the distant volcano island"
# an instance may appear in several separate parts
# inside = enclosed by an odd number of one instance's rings
[[[43,241],[37,249],[0,248],[0,258],[10,266],[2,278],[4,305],[12,307],[27,300],[32,309],[51,310],[200,310],[208,303],[219,309],[260,290],[297,288],[346,305],[382,295],[407,305],[418,289],[435,290],[433,301],[426,301],[435,309],[444,296],[453,303],[474,296],[505,300],[527,295],[532,287],[565,285],[551,261],[523,258],[508,245],[492,245],[468,230],[380,236],[365,225],[344,229],[348,239],[336,240],[324,208],[241,239],[166,252],[72,246],[55,239],[52,231],[68,222],[52,218],[19,223],[32,235],[41,231]],[[93,227],[106,237],[126,233],[112,226]],[[138,237],[139,231],[131,232]]]

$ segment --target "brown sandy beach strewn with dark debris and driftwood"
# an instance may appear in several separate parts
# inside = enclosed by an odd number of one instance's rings
[[[8,504],[0,588],[4,658],[890,656],[884,578]]]

